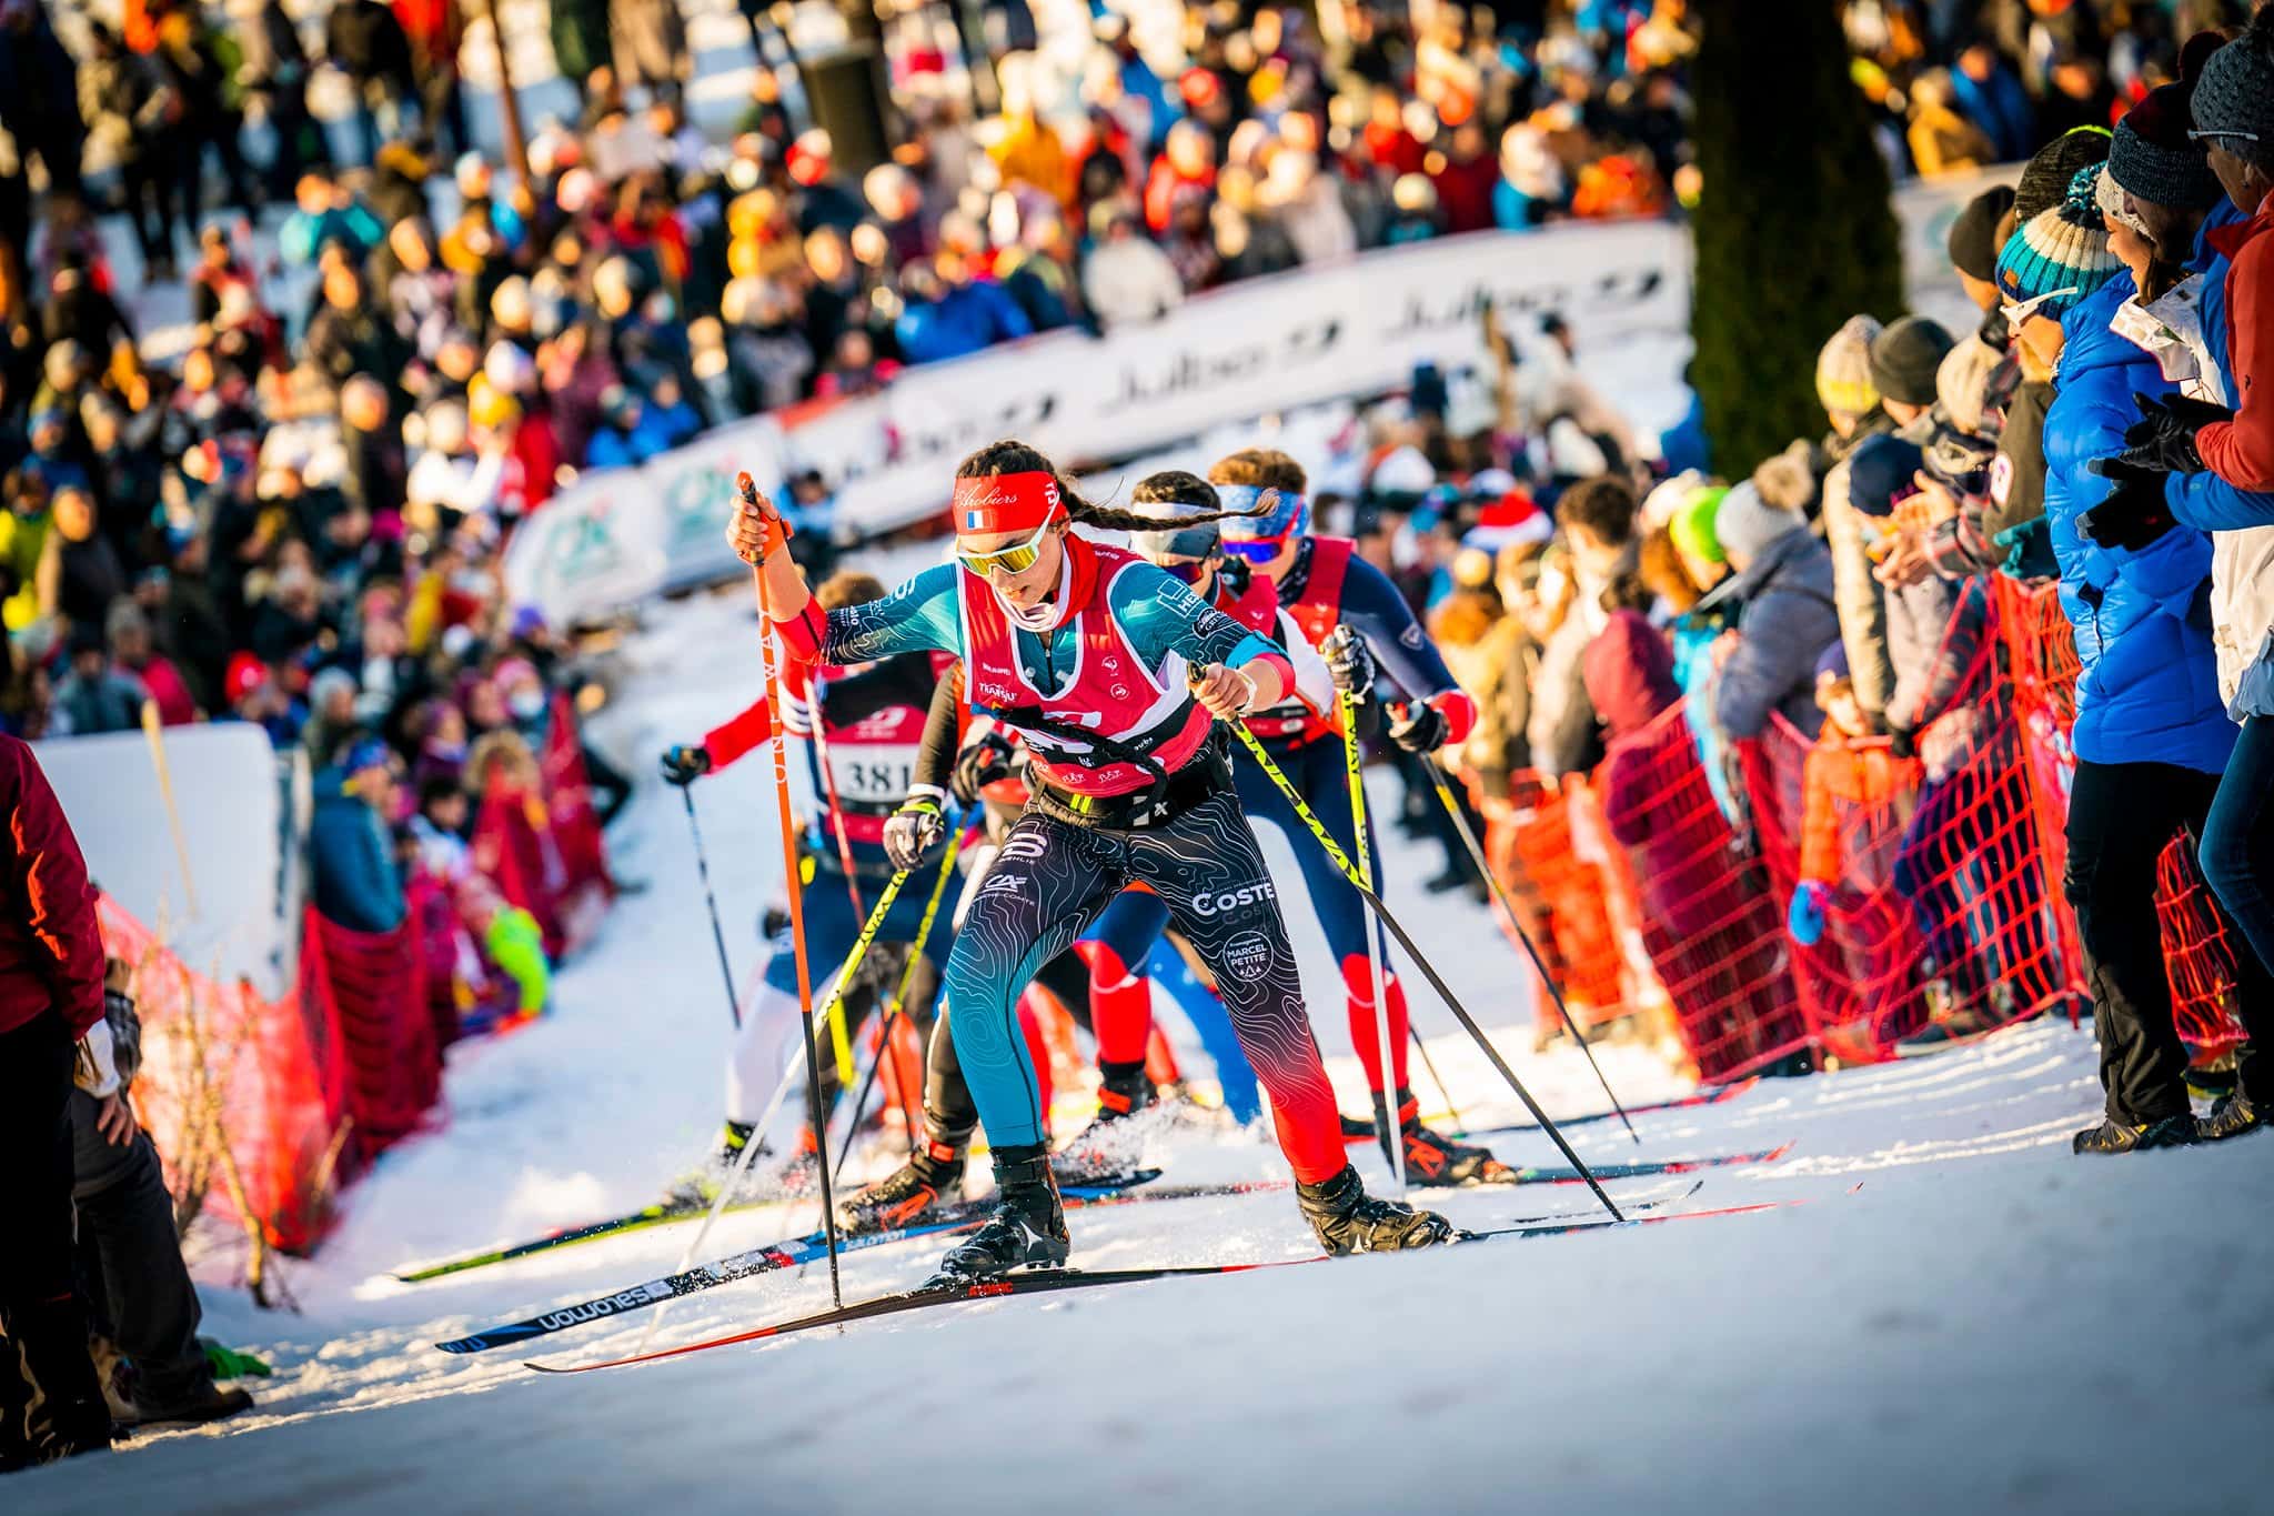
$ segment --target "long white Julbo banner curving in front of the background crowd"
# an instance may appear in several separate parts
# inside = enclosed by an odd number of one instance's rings
[[[944,509],[955,461],[1003,436],[1073,468],[1399,389],[1421,361],[1480,364],[1487,305],[1503,318],[1558,311],[1587,345],[1678,332],[1687,232],[1637,220],[1446,236],[1248,280],[1103,336],[1048,332],[910,368],[875,395],[741,420],[582,477],[516,530],[507,591],[573,625],[732,575],[737,470],[778,489],[814,468],[839,527],[869,536]]]

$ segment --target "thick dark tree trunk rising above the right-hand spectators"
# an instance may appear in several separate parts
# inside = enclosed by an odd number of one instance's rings
[[[1692,380],[1715,468],[1824,432],[1817,350],[1903,314],[1903,243],[1833,0],[1701,0]]]

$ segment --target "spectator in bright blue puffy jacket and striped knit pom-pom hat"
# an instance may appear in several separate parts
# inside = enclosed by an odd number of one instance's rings
[[[2074,1150],[2133,1152],[2194,1141],[2156,859],[2181,827],[2201,830],[2235,730],[2210,648],[2210,539],[2178,525],[2126,545],[2078,532],[2078,516],[2110,491],[2090,464],[2124,450],[2133,395],[2169,391],[2156,361],[2108,330],[2135,284],[2108,248],[2099,175],[2081,170],[2060,205],[2012,234],[1997,282],[2017,341],[2053,368],[2044,520],[2083,666],[2063,886],[2092,982],[2108,1116],[2078,1132]],[[2242,980],[2254,998],[2260,986]]]

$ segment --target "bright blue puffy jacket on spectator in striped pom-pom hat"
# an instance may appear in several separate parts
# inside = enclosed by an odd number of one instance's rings
[[[2131,295],[2131,275],[2117,275],[2063,318],[2044,414],[2044,520],[2083,664],[2072,741],[2092,764],[2219,773],[2235,727],[2210,650],[2210,539],[2181,525],[2124,552],[2076,534],[2076,518],[2113,489],[2088,464],[2124,450],[2124,427],[2140,418],[2133,393],[2172,389],[2156,359],[2108,330]]]

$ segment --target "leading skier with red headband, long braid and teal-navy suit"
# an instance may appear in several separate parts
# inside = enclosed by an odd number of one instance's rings
[[[730,545],[760,564],[775,634],[796,659],[857,664],[919,648],[964,659],[966,700],[1019,732],[1032,798],[971,902],[946,966],[948,1027],[994,1143],[998,1205],[944,1275],[1064,1264],[1035,1071],[1012,1007],[1128,882],[1169,905],[1223,986],[1271,1091],[1303,1218],[1328,1252],[1453,1236],[1433,1211],[1376,1200],[1342,1152],[1333,1086],[1310,1036],[1271,877],[1239,811],[1214,720],[1278,705],[1287,655],[1130,552],[1071,534],[1153,523],[1105,511],[1032,448],[1003,441],[955,470],[955,564],[873,605],[823,611],[785,548],[780,511],[744,505]],[[1207,909],[1196,909],[1201,896]]]

